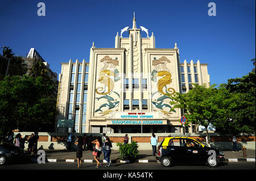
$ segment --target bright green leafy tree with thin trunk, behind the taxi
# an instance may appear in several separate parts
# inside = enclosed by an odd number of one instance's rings
[[[216,126],[216,124],[226,119],[226,112],[228,112],[228,107],[231,106],[230,98],[232,95],[230,92],[223,88],[214,88],[215,85],[209,88],[205,85],[193,84],[193,86],[193,89],[189,90],[187,94],[176,92],[170,96],[172,99],[170,104],[174,105],[174,108],[184,110],[187,125],[194,123],[208,128],[209,123]],[[206,132],[208,142],[210,142],[208,129],[206,129]]]

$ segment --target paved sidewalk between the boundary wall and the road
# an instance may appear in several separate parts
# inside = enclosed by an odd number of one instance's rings
[[[46,159],[48,162],[76,162],[76,151],[67,150],[45,150]],[[110,159],[112,163],[120,162],[119,150],[112,150]],[[228,162],[247,161],[255,162],[255,150],[246,149],[246,157],[243,157],[243,152],[233,153],[232,151],[224,151],[225,159]],[[93,159],[92,151],[86,150],[82,153],[82,161],[92,163],[96,162]],[[101,154],[100,161],[105,162],[104,154]],[[152,156],[152,150],[139,150],[139,158],[136,162],[148,163],[157,162],[156,158]]]

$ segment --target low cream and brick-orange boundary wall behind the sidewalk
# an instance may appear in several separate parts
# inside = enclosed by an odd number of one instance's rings
[[[22,137],[30,136],[34,132],[15,132],[15,135],[20,133]],[[75,142],[78,136],[90,136],[92,134],[93,139],[97,136],[102,136],[102,133],[72,133],[72,140]],[[117,142],[123,142],[126,133],[107,133],[106,135],[110,138],[113,145],[113,150],[118,150],[116,145]],[[151,133],[127,133],[129,136],[129,142],[136,141],[139,145],[139,150],[151,150],[150,145]],[[164,137],[171,136],[184,136],[183,133],[155,133],[158,138],[158,143],[163,140]],[[67,149],[67,133],[47,133],[39,132],[38,149],[50,149],[50,150],[64,150]],[[210,146],[221,150],[232,150],[232,135],[220,135],[218,133],[209,133]],[[206,145],[206,134],[205,133],[187,133],[185,137],[191,137],[195,140]],[[245,146],[246,149],[255,150],[255,135],[251,134],[239,134],[236,136],[238,140],[238,149],[242,149]],[[25,144],[25,150],[27,150],[28,144]],[[76,145],[72,144],[72,149],[76,149]]]

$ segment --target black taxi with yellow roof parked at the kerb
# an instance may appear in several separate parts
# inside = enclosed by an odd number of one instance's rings
[[[223,151],[209,148],[191,137],[166,137],[158,145],[156,159],[164,167],[175,163],[203,163],[217,167],[225,161]]]

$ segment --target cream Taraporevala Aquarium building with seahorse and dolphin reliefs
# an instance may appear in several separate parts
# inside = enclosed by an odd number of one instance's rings
[[[73,119],[79,133],[180,133],[180,109],[167,94],[188,92],[192,83],[210,85],[208,64],[180,64],[179,49],[155,48],[142,37],[135,17],[129,37],[115,36],[114,48],[90,49],[90,60],[61,63],[57,119]],[[197,132],[191,125],[187,132]]]

